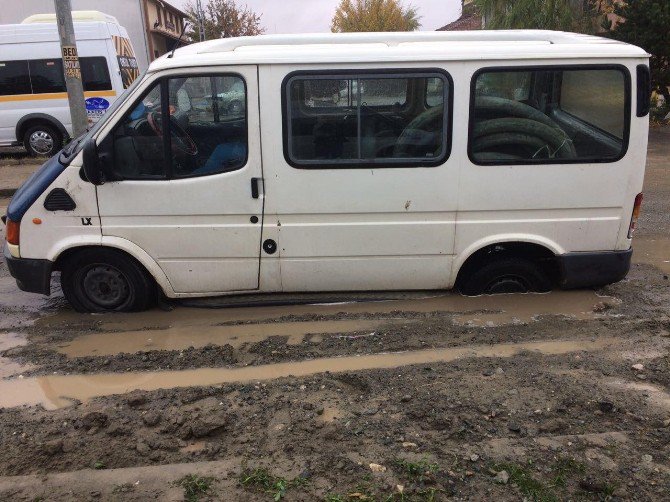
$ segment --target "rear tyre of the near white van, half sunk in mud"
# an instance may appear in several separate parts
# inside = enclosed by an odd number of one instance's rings
[[[546,292],[552,283],[542,267],[523,258],[500,257],[472,270],[459,285],[464,295]]]

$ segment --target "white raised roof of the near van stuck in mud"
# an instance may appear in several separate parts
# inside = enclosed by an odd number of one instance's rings
[[[187,45],[149,71],[212,64],[645,58],[639,47],[546,30],[259,35]]]

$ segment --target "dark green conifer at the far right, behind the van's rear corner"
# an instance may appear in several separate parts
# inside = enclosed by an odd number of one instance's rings
[[[670,2],[635,0],[614,8],[622,21],[612,26],[609,35],[638,45],[650,53],[651,85],[670,103]]]

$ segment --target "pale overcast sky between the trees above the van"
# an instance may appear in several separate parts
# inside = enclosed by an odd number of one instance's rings
[[[189,0],[168,0],[184,8]],[[203,5],[207,0],[202,0]],[[330,22],[339,0],[237,0],[261,16],[266,33],[311,33],[330,31]],[[421,30],[435,30],[460,15],[461,0],[404,0],[421,16]]]

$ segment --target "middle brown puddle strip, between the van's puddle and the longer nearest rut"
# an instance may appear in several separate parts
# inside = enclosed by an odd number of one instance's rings
[[[373,331],[386,324],[406,324],[398,320],[341,320],[315,322],[285,322],[210,326],[206,330],[194,326],[175,326],[162,330],[93,333],[61,345],[57,351],[68,357],[114,355],[148,350],[181,350],[200,348],[209,344],[229,344],[239,349],[247,343],[257,343],[271,336],[285,336],[288,345],[299,345],[307,335],[310,341],[321,341],[320,334]]]

